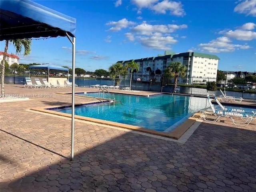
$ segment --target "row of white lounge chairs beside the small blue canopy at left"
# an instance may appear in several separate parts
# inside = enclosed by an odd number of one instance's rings
[[[65,80],[64,84],[60,84],[60,82],[57,80],[57,84],[52,84],[49,83],[47,81],[47,79],[42,79],[43,83],[41,83],[39,78],[35,78],[35,82],[36,84],[32,84],[31,78],[30,77],[26,77],[26,84],[24,84],[24,88],[64,88],[64,87],[72,87],[72,84],[68,81]],[[77,85],[75,84],[75,86],[77,87]]]

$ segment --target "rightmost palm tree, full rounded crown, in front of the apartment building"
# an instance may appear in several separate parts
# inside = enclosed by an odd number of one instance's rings
[[[182,65],[180,61],[170,63],[170,66],[164,70],[164,75],[170,78],[174,77],[174,89],[177,87],[178,77],[185,77],[186,66]]]

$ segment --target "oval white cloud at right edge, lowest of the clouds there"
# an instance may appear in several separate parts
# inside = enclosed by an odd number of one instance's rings
[[[237,29],[234,31],[230,30],[226,32],[225,36],[228,36],[230,38],[235,38],[237,40],[250,41],[250,40],[256,39],[256,32]]]

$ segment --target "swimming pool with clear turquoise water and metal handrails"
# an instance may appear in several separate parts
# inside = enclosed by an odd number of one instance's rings
[[[79,95],[98,97],[98,92]],[[106,94],[104,96],[108,98]],[[149,97],[111,94],[111,97],[115,97],[115,100],[120,102],[110,106],[109,103],[76,106],[75,114],[170,132],[192,116],[194,112],[208,107],[206,98],[172,96],[171,94],[158,94]],[[71,108],[61,108],[56,111],[71,114]]]

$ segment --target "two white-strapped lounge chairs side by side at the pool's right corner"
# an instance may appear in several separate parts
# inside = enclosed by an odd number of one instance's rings
[[[214,98],[221,109],[214,108],[214,105],[212,104],[210,96],[207,93],[207,100],[210,105],[210,108],[201,110],[202,116],[205,121],[216,122],[218,121],[219,118],[231,118],[232,122],[235,125],[248,126],[250,122],[255,120],[256,109],[245,111],[240,109],[225,108],[215,95],[214,95]]]

